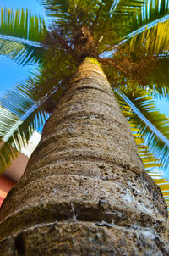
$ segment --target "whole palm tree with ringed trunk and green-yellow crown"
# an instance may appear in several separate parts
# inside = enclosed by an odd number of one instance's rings
[[[26,85],[15,89],[17,101],[26,96],[19,102],[25,106],[20,111],[25,118],[16,121],[19,125],[15,126],[13,141],[8,138],[10,141],[3,144],[7,159],[8,148],[14,152],[14,142],[18,149],[20,137],[29,136],[25,124],[29,127],[37,114],[51,112],[53,105],[56,109],[46,122],[41,142],[30,158],[25,175],[3,203],[0,234],[3,254],[169,253],[167,210],[161,191],[144,172],[128,124],[106,80],[107,76],[111,86],[115,86],[130,124],[134,129],[136,126],[136,130],[144,129],[147,137],[152,130],[154,140],[151,142],[161,150],[161,145],[166,143],[163,136],[167,137],[161,122],[166,120],[158,114],[157,132],[152,125],[155,122],[153,114],[149,113],[155,106],[150,96],[147,98],[147,93],[155,90],[152,86],[145,87],[148,77],[142,77],[150,64],[154,67],[158,64],[156,70],[161,69],[161,52],[158,47],[158,52],[146,53],[148,42],[140,43],[139,33],[145,25],[149,28],[153,20],[157,23],[167,15],[168,4],[151,2],[159,8],[139,1],[46,1],[43,2],[46,9],[57,21],[50,31],[42,25],[43,47],[33,41],[28,47],[28,41],[17,39],[27,47],[24,56],[23,50],[16,53],[13,48],[14,58],[27,61],[29,56],[30,61],[34,47],[39,47],[38,51],[43,51],[45,57],[39,59],[43,65],[34,81],[30,79]],[[3,20],[7,20],[7,23],[2,22],[5,34],[6,24],[12,24],[8,25],[8,34],[16,36],[15,19],[21,31],[28,31],[26,28],[32,19],[25,22],[28,18],[24,19],[24,14],[20,14],[22,19],[16,19],[16,14],[3,14]],[[134,40],[121,46],[133,30]],[[150,28],[150,35],[154,33],[152,30]],[[25,35],[27,40],[30,33]],[[3,43],[6,43],[4,38]],[[10,49],[13,42],[7,43]],[[114,53],[112,57],[107,58],[107,50]],[[101,64],[89,57],[97,58]],[[15,109],[11,112],[17,119],[19,106],[8,105],[11,95],[9,92],[3,102],[2,113]],[[30,114],[28,109],[31,109]],[[147,124],[148,113],[152,122]],[[139,149],[144,154],[144,147]],[[2,159],[4,162],[4,154]]]

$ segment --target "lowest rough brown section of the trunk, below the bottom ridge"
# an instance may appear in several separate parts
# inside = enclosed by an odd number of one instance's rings
[[[41,246],[40,246],[41,244]],[[132,228],[77,220],[35,225],[5,238],[1,255],[169,255],[151,228]]]

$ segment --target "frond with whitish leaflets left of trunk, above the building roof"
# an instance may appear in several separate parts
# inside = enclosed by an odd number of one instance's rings
[[[0,101],[0,171],[25,147],[31,134],[44,125],[48,114],[35,103],[29,83],[9,91]]]

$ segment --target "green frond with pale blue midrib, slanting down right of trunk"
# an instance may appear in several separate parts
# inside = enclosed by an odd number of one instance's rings
[[[155,103],[152,97],[146,95],[147,92],[142,91],[135,95],[129,92],[126,92],[127,95],[123,92],[116,92],[133,109],[134,121],[139,128],[139,133],[144,135],[145,144],[150,147],[155,158],[160,159],[160,163],[165,168],[169,156],[168,119],[155,108]]]

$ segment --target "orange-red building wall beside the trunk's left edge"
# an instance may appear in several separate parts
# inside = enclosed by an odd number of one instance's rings
[[[3,199],[6,197],[7,193],[14,186],[16,182],[8,178],[6,175],[0,175],[0,207],[3,203]]]

